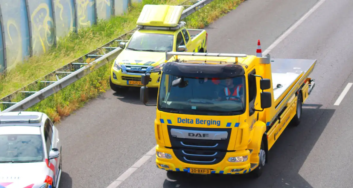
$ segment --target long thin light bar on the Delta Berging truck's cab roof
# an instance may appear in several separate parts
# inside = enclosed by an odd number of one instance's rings
[[[173,56],[206,56],[206,57],[235,57],[235,62],[238,62],[238,57],[247,57],[246,54],[224,54],[224,53],[201,53],[201,52],[166,52],[166,61],[169,61]]]

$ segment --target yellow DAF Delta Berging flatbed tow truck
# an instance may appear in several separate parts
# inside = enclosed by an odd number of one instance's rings
[[[167,52],[157,105],[157,167],[194,174],[262,174],[268,152],[315,86],[316,59]]]

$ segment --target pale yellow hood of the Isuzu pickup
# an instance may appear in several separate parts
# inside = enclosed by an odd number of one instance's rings
[[[116,62],[119,64],[150,65],[155,67],[163,63],[165,59],[165,52],[123,50],[116,58]]]

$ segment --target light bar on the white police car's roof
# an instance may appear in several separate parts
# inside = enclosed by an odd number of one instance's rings
[[[0,124],[41,123],[42,115],[0,115]]]

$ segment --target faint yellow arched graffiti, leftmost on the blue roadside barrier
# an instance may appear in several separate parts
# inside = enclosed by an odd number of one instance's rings
[[[14,29],[16,30],[17,35],[15,35],[13,38],[15,40],[17,39],[17,42],[12,41],[11,34],[14,32],[13,31],[10,32],[11,26],[14,27]],[[9,18],[7,20],[6,27],[7,27],[7,34],[8,34],[8,37],[10,38],[10,42],[11,42],[11,44],[9,44],[9,42],[6,41],[6,45],[8,45],[8,46],[16,45],[16,48],[11,49],[11,51],[10,50],[8,50],[8,51],[6,50],[6,51],[11,52],[11,55],[16,54],[16,52],[14,52],[14,51],[15,50],[17,51],[17,55],[12,56],[12,57],[15,57],[15,60],[13,62],[11,62],[10,66],[9,66],[9,64],[7,65],[7,69],[10,69],[14,65],[16,65],[17,63],[22,61],[22,36],[21,36],[21,32],[18,28],[18,25],[16,24],[16,20],[14,20],[13,18]],[[8,55],[10,55],[10,53]],[[11,56],[9,56],[9,57],[11,57]],[[10,59],[10,58],[7,58],[7,59]]]

